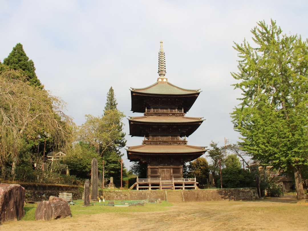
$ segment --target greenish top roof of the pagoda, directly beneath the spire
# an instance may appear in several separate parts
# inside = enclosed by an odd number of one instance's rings
[[[157,81],[154,84],[144,87],[144,88],[132,88],[133,92],[140,92],[146,94],[169,94],[169,95],[185,95],[185,94],[193,94],[200,93],[200,89],[185,89],[178,86],[173,85],[168,81]]]

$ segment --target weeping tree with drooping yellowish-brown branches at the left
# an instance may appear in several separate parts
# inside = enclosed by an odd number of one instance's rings
[[[0,64],[0,165],[9,163],[15,175],[25,140],[51,134],[54,149],[71,144],[72,119],[63,113],[65,103],[47,90],[29,84],[25,73]]]

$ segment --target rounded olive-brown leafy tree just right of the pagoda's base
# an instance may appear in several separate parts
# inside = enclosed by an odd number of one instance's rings
[[[199,184],[206,183],[205,179],[209,178],[209,164],[204,157],[198,157],[192,162],[189,162],[188,171],[190,177],[196,177]]]

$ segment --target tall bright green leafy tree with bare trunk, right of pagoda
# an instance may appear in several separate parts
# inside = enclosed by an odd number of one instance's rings
[[[298,201],[305,200],[301,169],[308,165],[308,48],[271,20],[251,30],[254,45],[234,43],[240,107],[231,113],[242,149],[264,165],[292,169]]]

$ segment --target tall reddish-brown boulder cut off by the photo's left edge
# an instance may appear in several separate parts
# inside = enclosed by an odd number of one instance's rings
[[[0,222],[20,220],[25,216],[25,189],[19,184],[0,183]]]

